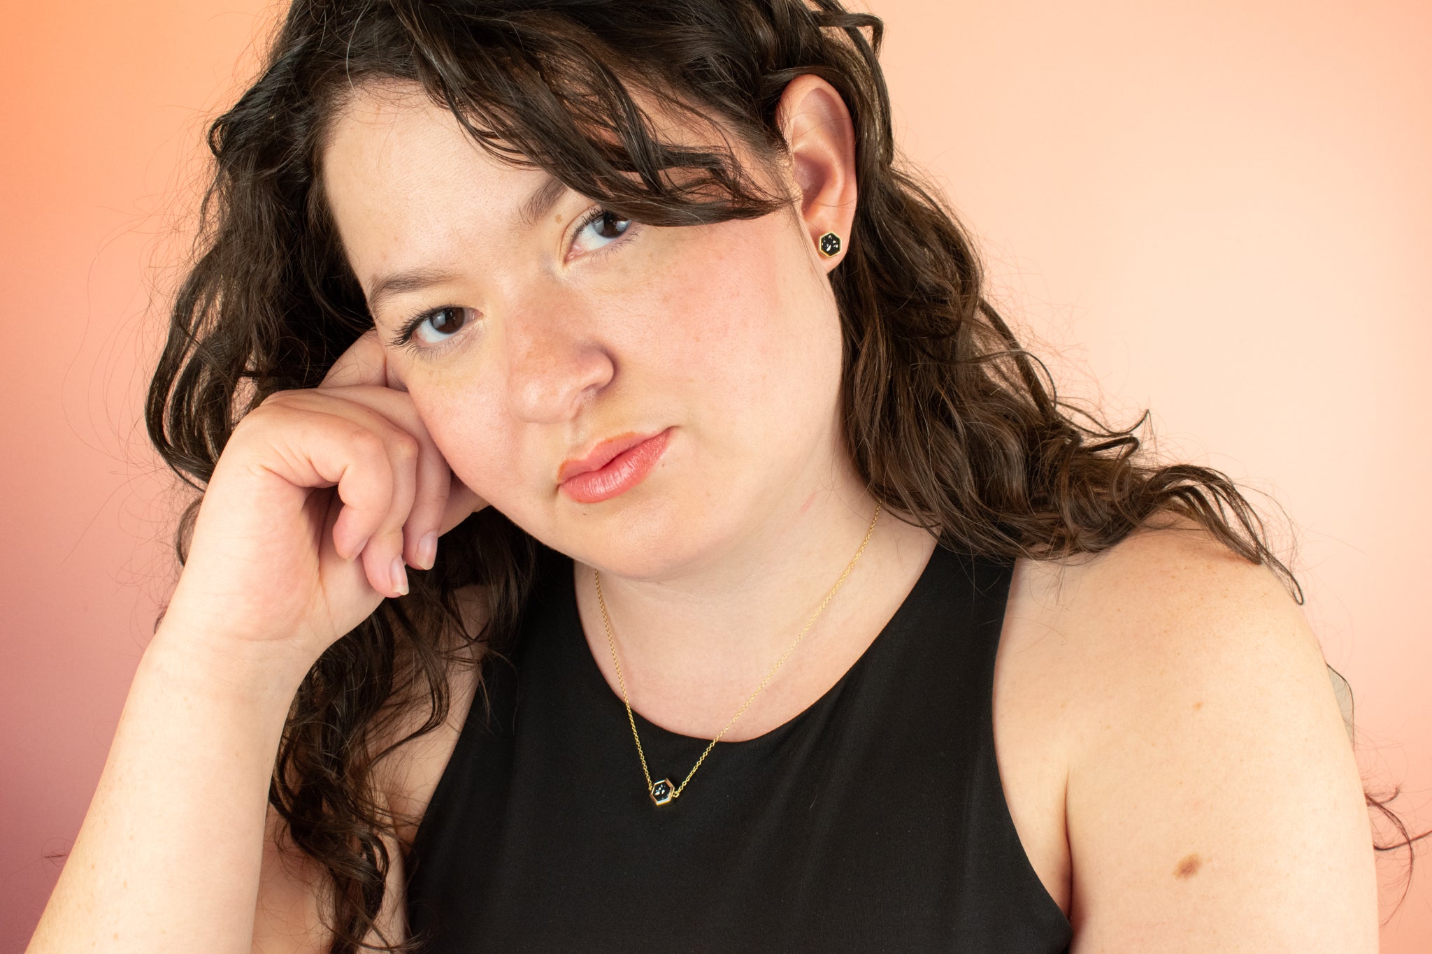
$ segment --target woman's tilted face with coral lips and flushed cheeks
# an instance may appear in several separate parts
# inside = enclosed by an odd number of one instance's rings
[[[322,159],[390,382],[457,478],[537,539],[659,578],[846,479],[836,308],[795,203],[709,226],[603,216],[412,87],[361,90]],[[563,486],[564,462],[659,432],[634,486],[596,502]]]

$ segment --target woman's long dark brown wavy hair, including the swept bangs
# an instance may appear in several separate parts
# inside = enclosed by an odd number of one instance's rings
[[[846,446],[869,492],[941,545],[1032,559],[1097,554],[1156,512],[1179,513],[1270,566],[1302,604],[1229,478],[1147,461],[1136,436],[1147,412],[1117,429],[1057,398],[984,297],[954,212],[896,162],[882,33],[878,17],[836,0],[295,0],[262,74],[209,129],[213,177],[149,388],[150,439],[202,492],[249,409],[316,386],[372,328],[318,177],[325,130],[358,84],[415,83],[494,157],[550,170],[623,217],[679,226],[763,216],[790,197],[762,192],[729,142],[663,142],[632,90],[716,117],[758,162],[775,162],[780,93],[813,73],[856,132],[859,199],[831,283]],[[180,562],[196,508],[179,523]],[[541,551],[495,509],[473,515],[431,571],[412,574],[407,598],[385,601],[304,679],[269,801],[326,871],[334,951],[368,947],[382,903],[394,820],[375,798],[375,761],[445,719],[458,649],[507,651]],[[467,632],[455,594],[474,584],[488,618]],[[401,711],[428,718],[375,751]]]

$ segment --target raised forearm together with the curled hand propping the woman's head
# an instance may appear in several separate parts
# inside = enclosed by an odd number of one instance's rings
[[[29,953],[248,954],[275,934],[275,910],[316,898],[309,868],[274,864],[265,824],[289,704],[334,641],[407,592],[404,564],[432,566],[437,536],[483,506],[388,388],[372,332],[322,386],[251,410],[205,489]],[[289,950],[321,950],[302,945],[312,923]]]

